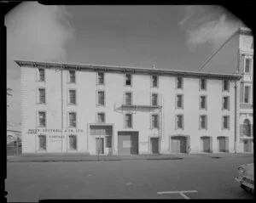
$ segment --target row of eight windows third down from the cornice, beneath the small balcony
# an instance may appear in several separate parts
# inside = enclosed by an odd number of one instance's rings
[[[46,127],[46,112],[39,111],[38,112],[38,127]],[[132,114],[125,113],[125,128],[132,128],[133,121],[132,121]],[[68,125],[69,127],[77,127],[77,114],[76,112],[69,112],[68,113]],[[105,122],[105,113],[98,112],[97,113],[97,122],[104,123]],[[230,116],[223,116],[223,125],[224,129],[230,128]],[[159,114],[151,114],[150,117],[150,128],[159,128],[160,127],[160,115]],[[183,129],[183,115],[176,115],[176,129]],[[200,116],[200,129],[207,129],[207,116],[201,115]]]

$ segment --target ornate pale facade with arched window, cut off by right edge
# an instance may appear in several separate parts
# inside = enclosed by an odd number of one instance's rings
[[[237,152],[253,153],[253,34],[241,28],[239,36],[239,138]]]

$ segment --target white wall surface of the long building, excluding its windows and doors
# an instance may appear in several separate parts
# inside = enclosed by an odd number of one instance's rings
[[[230,82],[230,92],[222,91],[222,80],[207,80],[207,91],[199,90],[198,78],[183,78],[183,89],[176,89],[176,77],[160,76],[159,87],[150,87],[150,76],[132,75],[131,87],[125,87],[125,75],[119,73],[105,74],[105,85],[96,85],[96,72],[77,71],[76,83],[68,82],[68,71],[63,70],[63,127],[61,127],[61,71],[45,71],[46,82],[37,82],[36,68],[21,68],[21,119],[22,119],[22,151],[23,153],[38,152],[38,135],[47,136],[46,152],[86,152],[96,154],[96,135],[90,135],[90,124],[96,124],[96,113],[105,112],[106,123],[113,125],[113,154],[118,153],[118,132],[139,132],[139,153],[150,153],[150,138],[160,136],[160,152],[171,153],[170,136],[182,134],[189,136],[191,153],[201,152],[201,136],[212,138],[213,152],[218,151],[218,136],[229,138],[229,151],[234,152],[235,130],[235,82]],[[46,88],[46,105],[36,104],[38,87]],[[68,89],[76,89],[77,104],[68,104]],[[104,107],[96,104],[96,91],[105,91]],[[150,104],[150,94],[162,95],[164,117],[162,134],[157,129],[150,129],[150,114],[159,110],[137,110],[133,113],[132,129],[125,129],[125,110],[120,110],[124,101],[125,91],[132,92],[133,104]],[[183,93],[183,109],[176,109],[175,97]],[[207,95],[207,110],[199,110],[200,95]],[[230,110],[222,110],[222,97],[230,96]],[[47,129],[62,129],[62,133],[49,132],[28,133],[29,129],[38,128],[38,110],[47,112]],[[77,112],[77,127],[68,127],[68,112]],[[184,129],[175,130],[175,115],[183,114]],[[207,130],[199,129],[200,114],[207,115]],[[230,116],[230,130],[222,130],[222,116]],[[77,130],[79,130],[77,132]],[[67,132],[65,132],[67,131]],[[73,131],[71,133],[70,131]],[[68,150],[68,135],[75,134],[78,138],[77,150]],[[59,136],[58,138],[55,138]],[[63,138],[61,138],[63,136]],[[106,150],[108,154],[108,150]]]

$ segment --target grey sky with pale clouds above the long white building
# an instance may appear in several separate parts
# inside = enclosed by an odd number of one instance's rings
[[[230,39],[201,71],[234,73],[238,38],[231,36],[242,22],[210,5],[24,2],[6,14],[5,25],[7,87],[13,89],[7,98],[8,129],[20,130],[20,67],[15,59],[197,71]]]

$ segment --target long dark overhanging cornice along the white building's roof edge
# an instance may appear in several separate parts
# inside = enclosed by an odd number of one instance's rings
[[[68,63],[54,63],[54,62],[38,62],[29,60],[15,60],[20,67],[31,68],[47,68],[47,69],[61,69],[61,70],[80,70],[80,71],[109,71],[121,73],[137,73],[149,75],[163,75],[163,76],[186,76],[186,77],[208,77],[215,79],[230,79],[240,80],[241,74],[225,74],[225,73],[207,73],[195,72],[188,70],[162,70],[162,69],[145,69],[138,67],[127,66],[110,66],[110,65],[85,65],[85,64],[68,64]]]

